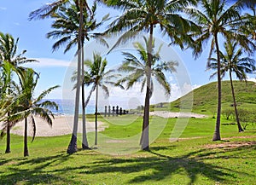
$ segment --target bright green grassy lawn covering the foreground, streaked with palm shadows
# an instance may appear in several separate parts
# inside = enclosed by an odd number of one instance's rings
[[[238,133],[236,125],[223,124],[223,141],[212,142],[215,119],[189,119],[181,138],[170,142],[177,119],[151,119],[155,122],[152,130],[165,124],[150,152],[113,156],[96,149],[68,155],[70,136],[54,136],[37,137],[29,143],[30,157],[23,158],[22,137],[12,136],[9,154],[4,154],[4,138],[0,142],[0,184],[255,184],[253,126]],[[141,117],[101,120],[109,124],[104,136],[126,138],[141,130]]]

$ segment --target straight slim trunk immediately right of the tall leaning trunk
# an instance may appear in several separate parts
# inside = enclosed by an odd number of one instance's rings
[[[84,39],[83,39],[84,40]],[[82,117],[83,117],[83,142],[82,148],[89,149],[87,136],[86,136],[86,122],[85,122],[85,101],[84,101],[84,41],[82,42]]]

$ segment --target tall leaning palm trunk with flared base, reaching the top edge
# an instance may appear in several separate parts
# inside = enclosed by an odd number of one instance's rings
[[[67,147],[67,153],[75,153],[78,150],[77,147],[77,134],[78,134],[78,124],[79,124],[79,95],[80,95],[80,83],[81,83],[81,43],[82,43],[82,32],[83,32],[83,1],[79,1],[80,6],[80,20],[79,20],[79,41],[78,41],[78,76],[77,76],[77,87],[76,87],[76,97],[75,97],[75,111],[73,119],[73,134],[71,141]]]

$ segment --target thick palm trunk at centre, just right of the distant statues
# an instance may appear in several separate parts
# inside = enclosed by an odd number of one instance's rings
[[[144,102],[144,115],[143,115],[143,133],[141,137],[141,147],[142,150],[149,150],[149,108],[150,108],[150,94],[151,94],[151,66],[152,66],[152,42],[153,42],[153,31],[154,26],[150,25],[149,32],[149,43],[148,43],[148,69],[146,72],[147,75],[147,91]]]

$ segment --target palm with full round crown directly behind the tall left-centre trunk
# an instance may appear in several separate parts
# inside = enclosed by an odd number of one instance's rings
[[[47,38],[60,38],[53,45],[53,50],[59,49],[61,45],[66,46],[64,53],[76,45],[79,41],[79,6],[78,4],[71,3],[70,6],[61,6],[59,11],[55,14],[52,14],[51,17],[55,19],[55,22],[52,24],[52,28],[55,30],[47,33]],[[102,18],[100,22],[96,22],[94,16],[96,14],[96,3],[93,4],[91,9],[91,14],[88,12],[83,12],[83,37],[82,37],[82,48],[84,47],[84,40],[90,40],[90,38],[95,38],[101,43],[107,44],[98,33],[94,31],[102,26],[104,21],[108,20],[108,14]],[[84,49],[82,49],[82,61],[84,61]],[[82,77],[84,76],[84,66],[81,67]],[[81,82],[83,84],[83,82]],[[82,113],[83,113],[83,142],[82,147],[88,149],[88,142],[86,137],[85,129],[85,106],[84,106],[84,86],[82,85]]]

